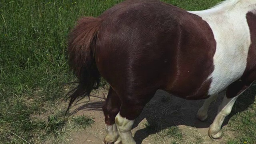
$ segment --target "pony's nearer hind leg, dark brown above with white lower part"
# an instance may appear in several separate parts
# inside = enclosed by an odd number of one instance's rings
[[[120,112],[115,119],[122,144],[136,144],[132,137],[132,125],[134,124],[134,120],[142,112],[146,103],[148,103],[153,96],[154,93],[147,94],[143,97],[134,95],[122,100]]]

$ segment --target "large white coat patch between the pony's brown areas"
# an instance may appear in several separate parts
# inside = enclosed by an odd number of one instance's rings
[[[216,40],[209,95],[224,90],[244,73],[251,44],[246,14],[256,9],[255,4],[255,0],[226,0],[208,10],[189,11],[209,24]]]

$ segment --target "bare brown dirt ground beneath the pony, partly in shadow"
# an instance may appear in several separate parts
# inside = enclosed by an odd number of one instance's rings
[[[107,90],[100,90],[88,99],[81,100],[73,106],[70,112],[74,115],[87,115],[94,118],[95,123],[91,128],[72,134],[70,144],[104,144],[104,114],[102,103]],[[218,105],[223,98],[219,98],[210,105],[208,120],[201,122],[196,119],[196,112],[202,106],[203,100],[184,100],[172,96],[162,90],[158,90],[155,96],[145,106],[132,128],[132,134],[137,144],[172,144],[172,137],[164,136],[164,129],[178,126],[182,132],[180,144],[224,144],[227,139],[233,137],[232,132],[226,130],[228,118],[224,121],[222,132],[224,136],[220,140],[211,140],[208,136],[208,127],[214,120]],[[151,127],[148,128],[145,124]]]

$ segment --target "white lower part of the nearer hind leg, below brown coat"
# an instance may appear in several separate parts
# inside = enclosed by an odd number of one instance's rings
[[[134,120],[128,120],[123,118],[118,113],[115,118],[116,126],[122,140],[122,144],[136,144],[134,139],[132,138],[132,125],[134,124]],[[118,143],[115,143],[118,144]]]

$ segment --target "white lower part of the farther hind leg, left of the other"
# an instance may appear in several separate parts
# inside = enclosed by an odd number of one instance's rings
[[[105,124],[105,130],[107,134],[104,138],[104,143],[106,144],[106,143],[116,142],[119,137],[116,124],[112,124],[112,125]]]

